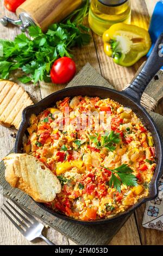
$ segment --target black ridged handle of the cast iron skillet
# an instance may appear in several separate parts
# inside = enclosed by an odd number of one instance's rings
[[[163,66],[163,33],[159,36],[152,50],[151,55],[147,59],[145,65],[142,67],[139,75],[131,81],[130,86],[124,90],[124,94],[131,99],[140,103],[141,96],[151,82],[152,78]]]

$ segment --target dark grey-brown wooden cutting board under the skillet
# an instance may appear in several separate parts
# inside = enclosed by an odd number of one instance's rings
[[[162,77],[162,74],[160,74]],[[155,80],[152,81],[152,84]],[[95,69],[92,68],[90,64],[84,66],[82,71],[68,84],[68,87],[73,86],[84,86],[89,85],[100,85],[108,88],[113,88],[101,75],[99,75]],[[151,88],[151,87],[149,87]],[[155,85],[156,88],[156,85]],[[155,89],[158,92],[158,89]],[[86,92],[85,92],[86,93]],[[147,90],[150,94],[151,90]],[[66,96],[66,95],[65,95]],[[159,125],[160,131],[163,136],[163,117],[161,115],[152,113],[152,116],[156,123]],[[16,200],[24,209],[32,213],[32,215],[40,218],[43,222],[48,224],[50,227],[57,229],[60,233],[66,235],[68,238],[80,245],[106,245],[112,237],[117,233],[118,230],[123,226],[123,224],[128,220],[130,215],[126,217],[121,217],[119,220],[113,221],[109,224],[104,225],[80,225],[74,224],[67,221],[62,221],[47,212],[43,211],[39,206],[37,206],[32,199],[30,199],[23,192],[11,188],[10,185],[4,179],[4,164],[0,163],[0,187],[3,188],[4,196]],[[2,191],[1,191],[2,192]]]

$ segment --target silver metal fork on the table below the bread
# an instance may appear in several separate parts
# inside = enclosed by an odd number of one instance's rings
[[[22,214],[20,214],[20,212],[18,212],[15,207],[13,205],[11,205],[8,201],[6,201],[6,203],[10,206],[10,208],[12,210],[14,210],[16,212],[16,214],[18,216],[20,216],[20,218],[18,218],[14,212],[12,212],[8,206],[6,204],[3,204],[3,206],[5,207],[5,209],[7,209],[10,214],[15,218],[15,220],[20,223],[20,225],[18,225],[10,216],[9,214],[2,209],[2,211],[4,212],[4,214],[9,218],[9,220],[15,225],[15,227],[21,232],[21,234],[23,236],[26,237],[26,239],[28,241],[33,241],[35,238],[40,237],[41,239],[43,239],[48,245],[55,245],[54,243],[52,243],[51,241],[49,241],[45,236],[42,235],[42,230],[44,228],[44,225],[41,224],[39,221],[37,221],[32,215],[28,214],[28,212],[24,211],[16,202],[14,202],[13,200],[11,200],[18,209],[20,209],[23,214],[28,218],[24,217]]]

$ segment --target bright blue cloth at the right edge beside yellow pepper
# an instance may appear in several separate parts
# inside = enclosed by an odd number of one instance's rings
[[[149,34],[151,35],[151,39],[152,39],[152,47],[149,50],[147,57],[151,54],[153,46],[161,33],[163,33],[163,0],[156,3],[153,11],[151,24],[149,26]],[[163,53],[163,48],[162,48],[162,53]],[[162,66],[162,70],[163,70],[163,66]]]

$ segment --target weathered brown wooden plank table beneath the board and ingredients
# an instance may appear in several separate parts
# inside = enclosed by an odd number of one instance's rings
[[[150,16],[152,15],[156,0],[131,0],[132,4],[132,22],[148,29]],[[15,18],[15,15],[9,13],[3,7],[3,0],[0,0],[0,16],[9,16]],[[85,21],[87,24],[87,21]],[[4,28],[0,25],[0,38],[14,39],[20,33],[16,27],[9,26]],[[115,65],[110,58],[105,56],[103,52],[102,39],[91,33],[92,40],[88,46],[82,50],[76,50],[74,53],[74,60],[77,63],[78,71],[89,62],[106,80],[108,80],[117,90],[122,90],[134,77],[135,72],[142,64],[141,59],[131,68],[122,68]],[[13,80],[16,81],[14,77]],[[54,86],[40,83],[40,87],[34,87],[32,84],[25,86],[30,96],[34,101],[38,101],[48,94],[64,88],[65,86]],[[162,102],[159,103],[157,112],[163,114]],[[0,127],[0,159],[9,153],[13,148],[15,139],[10,136],[14,129],[7,129]],[[4,203],[5,198],[0,196],[0,207]],[[142,205],[133,215],[129,218],[123,228],[112,239],[109,245],[162,245],[163,232],[146,229],[142,227],[142,217],[145,210],[145,205]],[[45,242],[36,240],[33,243],[28,242],[18,230],[11,224],[11,222],[0,212],[0,244],[1,245],[45,245]],[[45,234],[51,241],[57,245],[73,245],[74,243],[67,239],[65,236],[58,233],[53,229],[46,230]]]

